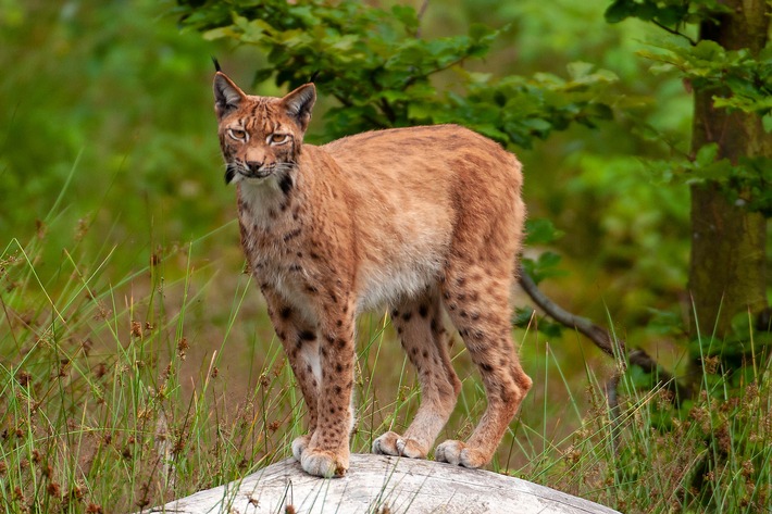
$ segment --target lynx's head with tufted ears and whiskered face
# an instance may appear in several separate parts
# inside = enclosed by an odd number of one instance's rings
[[[246,95],[224,73],[214,75],[214,111],[225,158],[225,183],[288,176],[300,155],[316,100],[313,84],[284,98]]]

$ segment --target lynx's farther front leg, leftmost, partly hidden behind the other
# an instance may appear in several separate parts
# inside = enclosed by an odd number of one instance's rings
[[[270,287],[262,288],[269,305],[269,316],[276,336],[282,341],[289,365],[308,409],[308,434],[292,441],[292,455],[300,461],[301,454],[316,430],[319,385],[322,381],[322,367],[319,358],[316,329],[306,322],[300,313],[276,294]]]

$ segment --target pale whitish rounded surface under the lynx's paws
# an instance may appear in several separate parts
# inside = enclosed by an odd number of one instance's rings
[[[287,510],[291,505],[292,510]],[[186,514],[512,513],[619,514],[581,498],[496,473],[434,461],[353,454],[343,478],[307,475],[294,460],[144,512]]]

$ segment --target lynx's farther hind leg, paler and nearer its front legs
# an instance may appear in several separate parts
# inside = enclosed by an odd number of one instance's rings
[[[404,434],[382,435],[373,441],[373,453],[426,459],[461,390],[448,355],[438,293],[398,305],[391,311],[391,323],[418,372],[421,405]]]

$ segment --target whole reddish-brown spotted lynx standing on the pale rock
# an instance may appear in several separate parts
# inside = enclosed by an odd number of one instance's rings
[[[445,311],[488,404],[468,441],[445,441],[434,455],[487,464],[532,385],[510,326],[525,218],[518,160],[455,125],[303,145],[313,84],[257,97],[217,72],[214,97],[241,245],[308,409],[308,435],[291,444],[302,468],[348,469],[354,322],[378,308],[415,366],[422,402],[404,434],[383,434],[373,452],[425,459],[447,423],[461,383]]]

